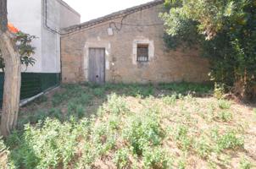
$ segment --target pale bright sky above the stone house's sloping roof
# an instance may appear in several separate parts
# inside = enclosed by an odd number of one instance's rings
[[[152,0],[64,0],[81,14],[81,22],[150,1]]]

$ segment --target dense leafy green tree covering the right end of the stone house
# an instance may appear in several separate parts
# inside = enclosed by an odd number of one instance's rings
[[[255,0],[166,0],[164,6],[167,46],[198,44],[209,57],[212,80],[237,95],[255,96]]]

